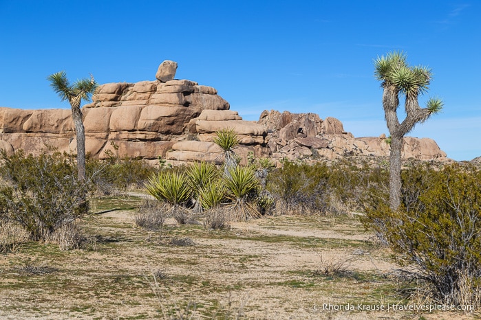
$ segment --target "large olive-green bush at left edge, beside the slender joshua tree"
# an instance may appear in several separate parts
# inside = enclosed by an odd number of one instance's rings
[[[1,155],[0,203],[8,220],[19,223],[32,240],[47,240],[63,225],[85,214],[88,183],[77,181],[74,163],[59,153],[34,157]]]

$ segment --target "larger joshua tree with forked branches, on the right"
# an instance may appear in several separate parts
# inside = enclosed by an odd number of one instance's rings
[[[400,168],[403,137],[418,123],[442,110],[443,102],[430,98],[425,108],[418,103],[419,95],[426,93],[432,79],[431,69],[424,66],[411,67],[403,52],[389,52],[374,60],[374,76],[383,88],[383,108],[387,128],[391,135],[389,157],[389,208],[397,210],[400,205]],[[398,119],[399,96],[405,98],[405,119]]]

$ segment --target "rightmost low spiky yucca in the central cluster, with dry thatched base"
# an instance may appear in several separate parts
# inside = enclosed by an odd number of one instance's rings
[[[252,167],[232,168],[228,176],[224,176],[223,181],[227,189],[227,198],[233,201],[229,205],[233,220],[248,220],[261,216],[257,208],[251,204],[260,190],[259,179]]]

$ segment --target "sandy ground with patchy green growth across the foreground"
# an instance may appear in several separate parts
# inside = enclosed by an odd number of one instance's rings
[[[339,310],[341,304],[356,308],[354,301],[395,301],[382,292],[389,291],[398,266],[387,249],[370,244],[372,234],[355,218],[268,217],[232,223],[229,231],[179,229],[169,220],[172,227],[162,238],[195,242],[182,247],[156,242],[157,233],[133,227],[134,214],[107,212],[87,221],[89,232],[101,235],[89,250],[49,247],[50,255],[38,249],[2,255],[0,319],[472,318]],[[21,276],[15,266],[27,258],[56,271]],[[341,264],[343,273],[313,275],[328,264]]]

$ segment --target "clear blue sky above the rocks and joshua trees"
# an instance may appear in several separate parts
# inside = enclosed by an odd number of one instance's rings
[[[175,78],[215,87],[231,109],[340,119],[355,137],[388,133],[372,60],[403,50],[434,72],[444,111],[409,135],[448,157],[481,156],[481,1],[0,0],[0,106],[67,108],[45,79]],[[402,108],[400,108],[402,111]]]

